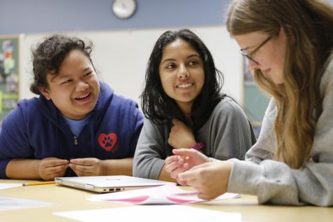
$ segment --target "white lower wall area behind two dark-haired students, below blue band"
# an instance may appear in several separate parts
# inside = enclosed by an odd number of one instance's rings
[[[224,73],[224,91],[243,104],[243,64],[236,41],[229,37],[226,28],[191,27],[210,49],[217,67]],[[118,95],[135,99],[144,84],[147,61],[154,43],[167,29],[130,29],[110,32],[68,33],[94,43],[92,59],[101,78],[111,85]],[[29,83],[32,79],[31,48],[46,34],[20,36],[20,99],[32,97]]]

